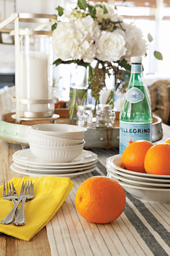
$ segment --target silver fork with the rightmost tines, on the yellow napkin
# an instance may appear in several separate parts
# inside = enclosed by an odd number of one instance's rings
[[[27,182],[25,182],[25,186],[27,185]],[[25,213],[24,213],[24,206],[25,206],[25,201],[30,201],[33,198],[34,195],[34,184],[31,184],[29,186],[29,181],[28,181],[28,185],[24,190],[24,194],[23,195],[19,195],[18,199],[22,198],[22,203],[21,203],[21,207],[19,209],[19,213],[14,221],[14,225],[19,225],[19,226],[23,226],[25,225]]]

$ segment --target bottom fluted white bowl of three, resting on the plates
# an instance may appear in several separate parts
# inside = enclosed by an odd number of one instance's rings
[[[44,146],[29,142],[33,155],[45,163],[69,163],[83,151],[85,142],[74,146]]]

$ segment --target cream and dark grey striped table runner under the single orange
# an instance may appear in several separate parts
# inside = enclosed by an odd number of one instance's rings
[[[124,212],[115,221],[86,221],[75,208],[80,184],[91,176],[107,175],[106,159],[117,149],[91,149],[98,155],[95,171],[80,175],[66,202],[47,224],[52,256],[164,256],[170,255],[170,204],[135,199],[127,191]]]

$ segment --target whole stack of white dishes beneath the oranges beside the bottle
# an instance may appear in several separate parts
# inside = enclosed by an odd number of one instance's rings
[[[135,198],[154,203],[170,203],[170,175],[154,175],[126,170],[122,155],[109,157],[107,176],[116,180]]]

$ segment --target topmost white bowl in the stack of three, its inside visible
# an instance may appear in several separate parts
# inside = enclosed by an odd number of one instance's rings
[[[87,132],[87,128],[73,124],[34,124],[31,129],[37,133],[74,140],[83,140]]]

